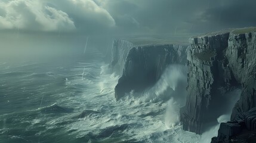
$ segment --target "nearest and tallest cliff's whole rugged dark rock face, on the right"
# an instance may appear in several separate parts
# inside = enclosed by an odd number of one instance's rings
[[[232,32],[192,39],[187,55],[189,67],[186,106],[181,108],[183,128],[202,133],[225,114],[225,93],[242,86],[232,120],[256,106],[256,33]]]

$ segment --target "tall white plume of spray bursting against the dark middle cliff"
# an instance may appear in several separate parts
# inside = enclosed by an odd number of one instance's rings
[[[143,102],[166,102],[173,98],[184,105],[186,102],[187,68],[181,65],[168,66],[158,82],[141,93],[129,93],[128,96]]]

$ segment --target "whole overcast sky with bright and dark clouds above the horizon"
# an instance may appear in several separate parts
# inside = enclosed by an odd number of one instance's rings
[[[0,31],[204,33],[256,25],[255,0],[0,0]]]

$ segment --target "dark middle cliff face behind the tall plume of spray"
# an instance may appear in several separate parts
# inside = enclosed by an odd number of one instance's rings
[[[122,77],[115,88],[119,100],[128,92],[141,92],[153,86],[166,66],[186,63],[186,47],[176,45],[138,46],[132,48],[125,60]]]

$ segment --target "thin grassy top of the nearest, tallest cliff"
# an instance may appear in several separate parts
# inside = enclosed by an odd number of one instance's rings
[[[192,38],[202,38],[206,36],[216,36],[216,35],[223,35],[225,33],[233,33],[235,35],[243,34],[243,33],[249,33],[249,32],[256,32],[256,27],[244,27],[244,28],[239,28],[239,29],[224,29],[220,30],[218,32],[211,32],[211,33],[206,33],[203,35],[198,35],[198,36],[193,36]]]

